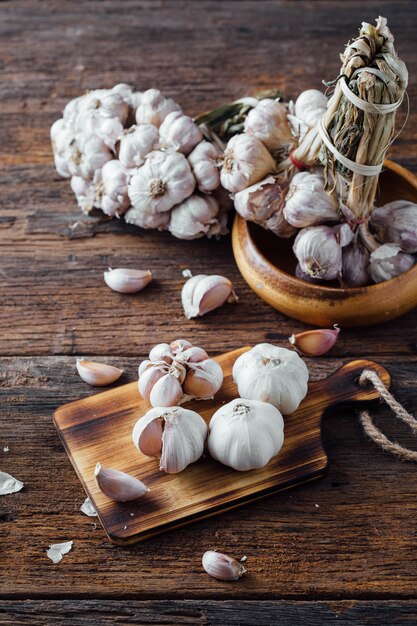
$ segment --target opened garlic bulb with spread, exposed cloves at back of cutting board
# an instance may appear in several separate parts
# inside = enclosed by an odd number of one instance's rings
[[[202,348],[185,339],[152,348],[139,367],[139,393],[154,407],[207,400],[220,389],[223,370]]]

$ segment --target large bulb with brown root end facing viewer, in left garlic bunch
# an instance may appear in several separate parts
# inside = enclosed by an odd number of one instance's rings
[[[195,179],[179,152],[151,152],[129,182],[132,206],[144,214],[169,211],[194,191]]]

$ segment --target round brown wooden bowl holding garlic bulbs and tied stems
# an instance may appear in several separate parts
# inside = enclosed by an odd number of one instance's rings
[[[417,203],[417,178],[385,162],[378,203],[411,200]],[[293,239],[236,215],[232,232],[237,266],[249,286],[275,309],[307,324],[344,327],[371,326],[394,319],[417,306],[417,264],[400,276],[377,285],[340,289],[312,285],[294,276]]]

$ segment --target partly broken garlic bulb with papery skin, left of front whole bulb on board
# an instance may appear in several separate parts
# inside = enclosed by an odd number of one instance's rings
[[[132,436],[142,454],[160,457],[162,471],[177,474],[203,454],[207,426],[195,411],[156,407],[136,422]]]

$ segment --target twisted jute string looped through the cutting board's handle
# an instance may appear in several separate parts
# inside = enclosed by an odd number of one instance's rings
[[[396,417],[405,422],[410,427],[413,435],[417,435],[417,420],[408,413],[401,404],[390,394],[378,374],[373,370],[364,370],[359,378],[360,385],[366,385],[370,382],[379,392],[381,398],[395,413]],[[385,452],[393,454],[401,461],[417,462],[417,452],[404,448],[399,443],[390,441],[373,423],[368,411],[360,411],[359,420],[366,435],[372,439]]]

